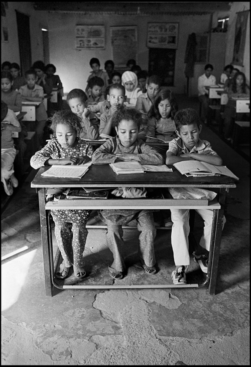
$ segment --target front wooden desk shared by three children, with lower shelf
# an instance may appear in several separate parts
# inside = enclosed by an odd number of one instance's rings
[[[218,188],[218,202],[211,202],[209,206],[203,207],[203,209],[213,209],[213,225],[212,235],[209,252],[208,274],[206,281],[201,284],[195,285],[183,285],[175,286],[169,285],[153,285],[152,288],[180,288],[180,287],[204,287],[208,286],[209,294],[215,294],[216,277],[218,258],[220,251],[221,230],[223,223],[223,213],[225,204],[226,190],[229,188],[235,188],[234,180],[227,176],[215,176],[215,177],[186,177],[182,175],[173,167],[173,172],[147,172],[144,174],[128,174],[128,175],[116,175],[109,165],[91,165],[89,170],[80,179],[73,178],[57,178],[57,177],[44,177],[41,173],[47,170],[49,167],[42,167],[31,182],[31,187],[36,188],[39,195],[39,211],[40,211],[40,226],[41,226],[41,238],[42,249],[44,259],[44,273],[45,273],[45,288],[46,295],[52,296],[53,287],[66,289],[66,288],[81,288],[81,289],[121,289],[121,288],[146,288],[141,285],[128,285],[128,286],[62,286],[59,287],[54,281],[54,259],[52,248],[52,235],[51,235],[51,223],[50,223],[50,209],[70,209],[72,206],[77,209],[103,209],[112,207],[116,208],[157,208],[157,209],[170,209],[170,208],[183,208],[183,209],[197,209],[202,208],[200,201],[194,200],[170,200],[170,199],[116,199],[116,200],[77,200],[77,201],[65,201],[64,203],[49,202],[46,203],[45,192],[46,188],[56,187],[86,187],[86,188],[117,188],[117,187],[146,187],[146,188],[168,188],[168,187],[200,187],[200,188]],[[114,204],[115,202],[115,204]],[[179,206],[177,206],[177,203]]]

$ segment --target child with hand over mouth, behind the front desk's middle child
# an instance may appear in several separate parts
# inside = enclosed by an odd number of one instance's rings
[[[111,117],[120,108],[123,107],[126,101],[126,90],[121,84],[111,84],[108,88],[107,101],[110,104],[110,109],[100,116],[99,134],[109,136],[116,136],[116,129],[112,126]],[[139,131],[139,138],[145,139],[145,131],[141,126]]]

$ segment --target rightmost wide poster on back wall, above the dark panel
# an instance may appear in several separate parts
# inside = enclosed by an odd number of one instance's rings
[[[177,48],[179,23],[148,23],[147,47]]]

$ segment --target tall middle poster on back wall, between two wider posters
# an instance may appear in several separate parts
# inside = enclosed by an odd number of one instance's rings
[[[110,27],[110,37],[115,68],[125,68],[128,60],[137,60],[137,26]]]

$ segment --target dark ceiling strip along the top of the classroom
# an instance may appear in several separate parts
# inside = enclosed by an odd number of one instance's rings
[[[230,10],[229,2],[36,2],[35,10],[51,12],[151,15],[207,14]]]

